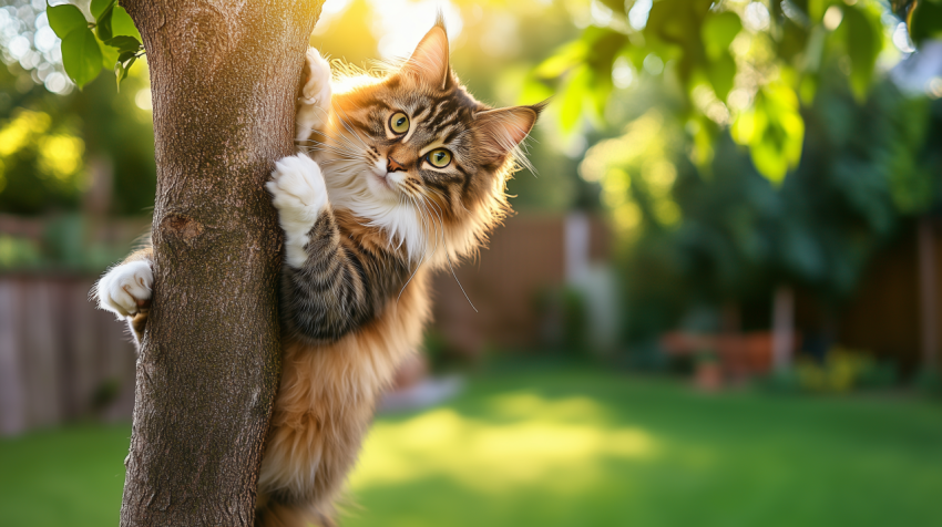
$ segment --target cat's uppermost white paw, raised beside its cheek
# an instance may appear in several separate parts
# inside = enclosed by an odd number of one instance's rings
[[[295,140],[299,147],[324,142],[324,128],[330,115],[330,64],[315,48],[308,48],[304,65],[305,84],[298,97]]]

